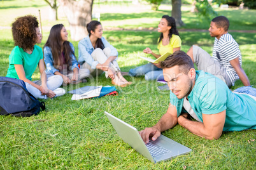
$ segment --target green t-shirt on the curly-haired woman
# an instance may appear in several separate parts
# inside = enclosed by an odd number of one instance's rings
[[[34,46],[31,55],[26,53],[22,48],[15,46],[9,56],[9,68],[6,77],[19,79],[14,65],[23,65],[25,77],[32,80],[31,76],[38,66],[39,60],[43,59],[43,51],[39,46]]]

